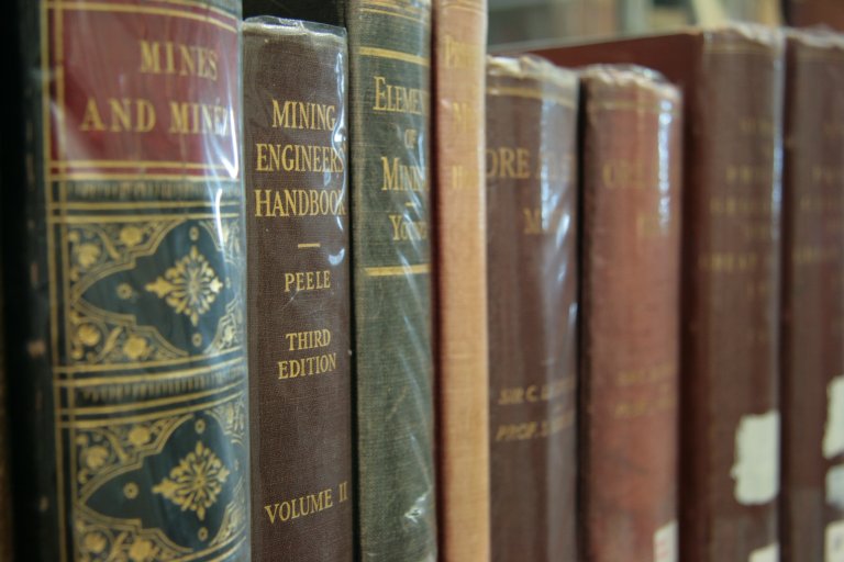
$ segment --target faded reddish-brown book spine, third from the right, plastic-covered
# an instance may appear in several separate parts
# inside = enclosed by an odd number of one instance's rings
[[[581,83],[585,557],[675,561],[681,98],[644,68]]]

